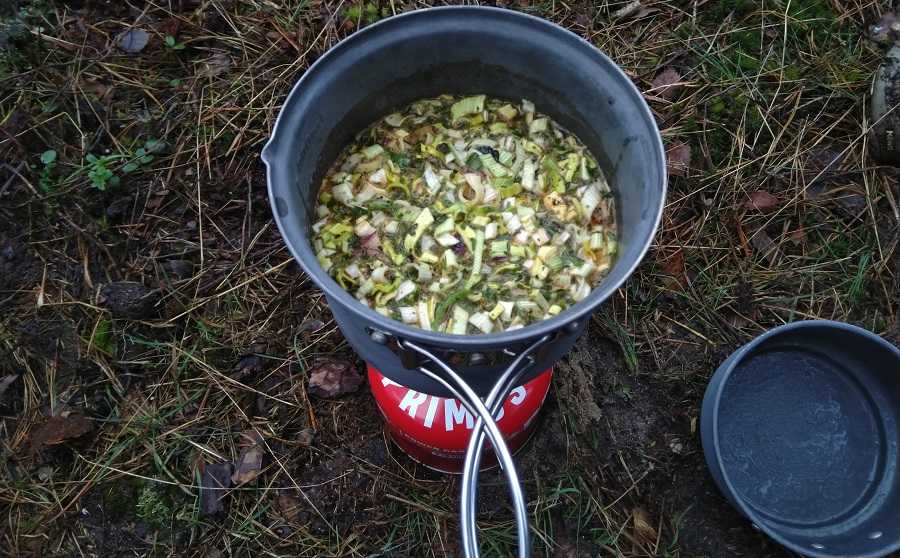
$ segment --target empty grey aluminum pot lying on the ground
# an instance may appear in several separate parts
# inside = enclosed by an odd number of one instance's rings
[[[716,370],[703,452],[728,501],[804,556],[900,550],[900,349],[810,320],[777,327]]]

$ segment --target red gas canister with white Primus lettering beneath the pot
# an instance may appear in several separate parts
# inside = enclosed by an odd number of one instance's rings
[[[369,386],[394,442],[410,457],[438,471],[461,473],[475,417],[457,399],[428,395],[389,380],[368,366]],[[553,371],[514,388],[497,426],[511,452],[528,440],[550,390]],[[490,444],[482,468],[496,465]]]

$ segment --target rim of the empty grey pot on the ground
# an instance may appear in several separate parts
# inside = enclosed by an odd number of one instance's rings
[[[791,322],[788,324],[780,325],[776,328],[770,329],[766,331],[762,335],[755,337],[749,343],[741,346],[737,351],[732,353],[729,360],[731,361],[728,366],[721,370],[717,370],[716,374],[722,374],[719,378],[719,383],[716,386],[716,389],[710,393],[708,396],[712,397],[712,416],[709,417],[710,424],[712,427],[712,451],[713,457],[715,459],[716,467],[718,468],[722,482],[725,484],[725,487],[728,490],[728,499],[733,502],[734,506],[738,508],[744,517],[749,519],[753,525],[757,526],[766,536],[773,539],[778,544],[793,550],[803,556],[809,556],[810,558],[837,558],[838,556],[845,556],[844,554],[838,555],[827,552],[827,549],[820,550],[812,547],[804,547],[798,545],[784,536],[782,536],[777,530],[770,528],[766,520],[753,511],[747,503],[744,501],[744,498],[740,496],[737,489],[735,489],[734,484],[731,482],[729,475],[727,473],[727,469],[725,468],[725,462],[722,459],[721,452],[721,444],[719,444],[719,406],[722,403],[722,393],[725,391],[725,386],[728,384],[728,380],[731,378],[731,374],[734,372],[735,368],[746,359],[747,355],[749,355],[753,350],[759,347],[765,341],[787,333],[789,331],[794,331],[798,329],[809,329],[815,327],[826,327],[841,330],[848,334],[859,335],[861,337],[865,337],[871,341],[876,342],[877,344],[885,347],[890,352],[894,353],[898,360],[900,360],[900,349],[892,345],[886,339],[882,338],[880,335],[873,333],[867,329],[861,328],[859,326],[851,325],[844,322],[837,322],[834,320],[802,320],[799,322]],[[704,448],[704,452],[706,449]],[[867,554],[854,554],[854,558],[879,558],[880,556],[884,556],[886,553],[893,552],[895,550],[900,549],[900,540],[894,541],[891,545],[883,547],[881,550],[870,552]]]

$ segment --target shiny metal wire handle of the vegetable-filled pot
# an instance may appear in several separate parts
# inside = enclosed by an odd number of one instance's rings
[[[419,371],[444,386],[470,413],[477,417],[475,428],[472,430],[472,434],[469,437],[469,446],[466,451],[460,494],[460,528],[462,529],[463,553],[466,558],[477,558],[479,556],[478,530],[475,521],[475,502],[478,499],[478,468],[481,465],[485,429],[487,436],[490,438],[491,444],[494,447],[494,453],[497,455],[497,460],[499,461],[503,472],[506,474],[506,480],[509,483],[509,492],[513,501],[513,510],[516,515],[517,541],[519,546],[518,556],[519,558],[529,558],[531,556],[531,540],[528,532],[528,510],[525,506],[525,493],[519,482],[519,475],[518,472],[516,472],[512,454],[510,453],[506,442],[503,440],[503,435],[497,427],[497,423],[493,417],[499,414],[500,410],[503,408],[503,402],[506,400],[507,395],[516,386],[516,383],[519,378],[522,377],[522,374],[534,364],[535,359],[532,356],[532,353],[549,339],[550,336],[545,335],[516,355],[513,361],[493,384],[490,393],[484,402],[481,401],[468,383],[466,383],[459,374],[440,358],[412,341],[401,341],[403,348],[414,351],[436,364],[446,377],[443,377],[436,372],[432,372],[425,366],[420,366]]]

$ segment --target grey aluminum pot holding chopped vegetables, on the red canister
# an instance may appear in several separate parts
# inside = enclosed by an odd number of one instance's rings
[[[597,157],[616,193],[620,252],[605,281],[558,316],[510,332],[450,335],[388,319],[344,291],[310,244],[316,192],[339,151],[381,116],[442,93],[532,100]],[[350,345],[387,377],[448,395],[397,341],[445,358],[481,395],[510,352],[550,335],[524,380],[575,343],[597,306],[618,289],[650,246],[665,200],[659,130],[643,97],[609,58],[542,19],[484,7],[444,7],[383,20],[316,61],[294,86],[262,153],[275,221],[291,253],[325,292]]]

